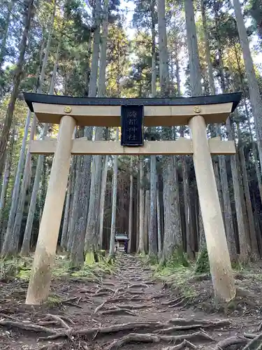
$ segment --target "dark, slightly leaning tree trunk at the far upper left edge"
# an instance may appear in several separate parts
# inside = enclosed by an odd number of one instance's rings
[[[6,118],[4,120],[3,130],[0,139],[0,179],[3,174],[3,167],[5,163],[6,146],[10,133],[10,127],[13,122],[13,113],[15,110],[15,102],[19,93],[20,82],[22,79],[24,69],[24,55],[27,50],[27,39],[31,26],[31,18],[34,13],[34,0],[24,0],[24,30],[22,34],[22,41],[20,46],[20,54],[17,59],[15,73],[13,76],[13,88],[10,94],[10,100],[6,111]]]

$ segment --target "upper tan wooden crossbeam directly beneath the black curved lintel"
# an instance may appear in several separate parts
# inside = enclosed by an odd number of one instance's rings
[[[33,103],[34,113],[41,123],[59,124],[65,114],[72,116],[77,125],[118,127],[121,125],[121,106],[71,106],[66,113],[62,104]],[[196,114],[195,106],[144,106],[144,123],[147,127],[188,125]],[[205,122],[224,123],[233,109],[233,103],[199,106]]]

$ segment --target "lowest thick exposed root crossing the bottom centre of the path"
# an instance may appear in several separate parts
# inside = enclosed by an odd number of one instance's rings
[[[212,337],[210,337],[205,332],[196,332],[192,334],[185,335],[152,335],[152,334],[137,334],[130,333],[129,335],[124,335],[124,337],[119,340],[115,340],[112,342],[106,350],[116,350],[119,349],[122,345],[133,343],[133,342],[144,342],[144,343],[160,343],[162,342],[181,342],[184,339],[195,339],[201,338],[209,341],[213,341]]]

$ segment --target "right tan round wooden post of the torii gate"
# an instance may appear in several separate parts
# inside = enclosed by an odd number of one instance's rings
[[[203,116],[194,116],[189,121],[189,127],[214,295],[217,300],[229,301],[235,297],[235,283],[208,147],[205,119]]]

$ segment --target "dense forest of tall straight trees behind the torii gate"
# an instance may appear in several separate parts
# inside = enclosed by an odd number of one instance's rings
[[[1,258],[34,251],[52,156],[31,156],[28,145],[58,132],[58,125],[38,123],[23,91],[74,97],[242,91],[238,109],[225,125],[208,125],[208,137],[235,140],[237,150],[212,156],[231,262],[262,256],[260,0],[0,0],[0,8]],[[119,132],[78,127],[75,137],[118,141]],[[173,140],[189,137],[189,128],[145,134]],[[162,264],[205,256],[192,157],[73,156],[59,251],[81,267],[87,253],[113,255],[116,232],[129,235],[130,252]]]

